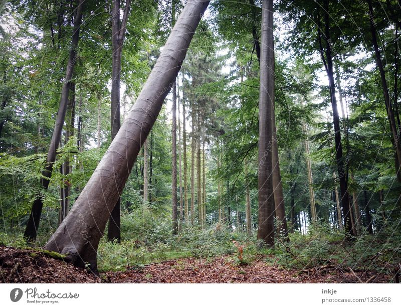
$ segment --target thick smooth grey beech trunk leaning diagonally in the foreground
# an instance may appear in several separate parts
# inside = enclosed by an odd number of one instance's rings
[[[97,248],[110,212],[177,77],[208,5],[209,1],[201,0],[186,4],[132,110],[45,249],[66,254],[66,260],[79,267],[87,264],[97,273]]]

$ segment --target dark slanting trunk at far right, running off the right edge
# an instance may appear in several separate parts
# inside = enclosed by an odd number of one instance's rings
[[[383,68],[383,63],[381,61],[381,54],[380,54],[379,46],[377,43],[376,26],[375,26],[374,18],[373,18],[373,7],[372,7],[371,0],[368,0],[367,4],[369,7],[369,24],[370,24],[370,33],[372,35],[372,44],[373,44],[373,48],[374,48],[375,61],[376,61],[376,65],[377,65],[377,68],[379,69],[379,73],[380,73],[381,87],[382,87],[383,96],[384,96],[384,104],[385,104],[385,108],[387,111],[388,122],[390,124],[390,130],[391,130],[391,142],[395,148],[395,157],[396,157],[395,174],[397,176],[398,182],[401,182],[401,170],[400,170],[401,142],[399,142],[399,136],[397,135],[397,127],[395,124],[394,111],[393,111],[393,107],[392,107],[392,104],[390,101],[390,95],[388,93],[387,81],[385,80],[385,72],[384,72],[384,68]]]

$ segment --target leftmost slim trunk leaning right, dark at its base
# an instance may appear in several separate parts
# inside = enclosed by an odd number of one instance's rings
[[[60,144],[61,133],[63,130],[64,119],[67,112],[68,97],[71,88],[71,79],[74,73],[74,66],[76,63],[77,47],[79,40],[79,30],[82,20],[83,0],[79,0],[74,19],[74,30],[71,40],[70,54],[68,57],[66,76],[64,78],[63,88],[61,90],[60,105],[56,117],[56,125],[53,130],[52,140],[50,142],[49,151],[46,159],[46,168],[42,172],[41,184],[43,189],[48,189],[50,178],[53,172],[53,164],[56,161],[56,150]],[[38,234],[39,222],[41,219],[43,208],[43,194],[36,196],[32,205],[31,214],[29,216],[27,228],[25,229],[24,237],[28,241],[35,241]]]

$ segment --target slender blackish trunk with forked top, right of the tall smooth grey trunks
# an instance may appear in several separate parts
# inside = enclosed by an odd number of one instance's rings
[[[331,39],[330,39],[330,24],[329,24],[329,2],[328,0],[324,0],[323,2],[324,9],[324,36],[326,41],[326,59],[323,55],[323,48],[321,42],[321,32],[320,32],[320,18],[318,17],[318,43],[320,49],[320,55],[322,57],[322,61],[324,63],[324,67],[326,70],[326,74],[329,80],[329,89],[330,89],[330,100],[331,106],[333,109],[333,124],[334,124],[334,139],[335,139],[335,150],[336,150],[336,161],[337,161],[337,169],[338,169],[338,177],[340,183],[340,192],[341,192],[341,203],[342,210],[344,216],[344,226],[347,232],[347,235],[353,235],[353,229],[351,224],[351,211],[349,208],[349,195],[347,188],[347,173],[345,172],[347,166],[344,165],[343,155],[342,155],[342,145],[341,145],[341,128],[340,128],[340,119],[338,116],[337,109],[337,100],[335,97],[335,83],[334,83],[334,75],[333,75],[333,59],[331,55]]]

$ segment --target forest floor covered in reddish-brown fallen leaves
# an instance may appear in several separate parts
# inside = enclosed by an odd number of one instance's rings
[[[212,259],[182,258],[103,272],[100,277],[40,249],[0,246],[0,282],[4,283],[386,283],[391,277],[335,264],[310,269],[269,265],[266,255],[238,264],[232,255]]]

